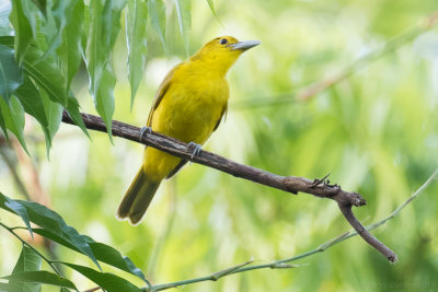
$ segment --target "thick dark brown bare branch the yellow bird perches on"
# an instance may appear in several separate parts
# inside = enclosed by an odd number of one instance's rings
[[[81,115],[88,129],[106,132],[106,126],[100,117],[88,114]],[[67,112],[64,112],[62,114],[62,121],[74,125]],[[265,186],[281,189],[291,194],[298,194],[301,191],[320,198],[333,199],[339,206],[339,209],[347,221],[367,243],[379,250],[391,262],[396,260],[396,255],[366,231],[360,222],[355,218],[354,213],[348,211],[353,206],[359,207],[366,205],[366,200],[357,192],[345,191],[338,185],[315,185],[315,182],[319,179],[312,182],[303,177],[276,175],[253,166],[233,162],[204,150],[200,151],[199,155],[192,157],[193,151],[182,141],[165,137],[158,132],[140,135],[140,128],[116,120],[113,120],[113,135]]]

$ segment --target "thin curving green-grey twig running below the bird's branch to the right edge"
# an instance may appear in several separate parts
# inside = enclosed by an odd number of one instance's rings
[[[385,222],[388,222],[389,220],[393,219],[395,215],[397,215],[408,203],[411,203],[416,197],[419,196],[419,194],[422,194],[430,184],[431,182],[434,182],[435,179],[437,179],[438,177],[438,168],[430,175],[430,177],[426,180],[426,183],[424,183],[411,197],[408,197],[401,206],[399,206],[391,214],[389,214],[387,218],[380,220],[379,222],[376,222],[373,224],[367,225],[365,229],[370,231],[370,230],[374,230],[381,225],[383,225]],[[249,270],[260,270],[260,269],[266,269],[266,268],[270,268],[270,269],[278,269],[278,268],[296,268],[299,267],[300,265],[288,265],[288,262],[301,259],[301,258],[306,258],[309,257],[311,255],[318,254],[318,253],[322,253],[325,252],[326,249],[328,249],[330,247],[342,243],[353,236],[356,236],[358,233],[354,232],[354,231],[347,231],[336,237],[333,237],[332,240],[321,244],[320,246],[318,246],[315,249],[306,252],[303,254],[293,256],[293,257],[289,257],[289,258],[285,258],[285,259],[278,259],[278,260],[274,260],[272,262],[268,264],[262,264],[262,265],[254,265],[254,266],[242,266],[238,269],[233,269],[231,272],[228,272],[226,276],[229,275],[233,275],[233,273],[239,273],[239,272],[244,272],[244,271],[249,271]],[[230,268],[229,268],[230,269]],[[226,269],[227,270],[227,269]],[[195,283],[195,282],[203,282],[203,281],[210,281],[209,279],[210,276],[207,277],[199,277],[199,278],[195,278],[195,279],[191,279],[191,280],[184,280],[184,281],[175,281],[175,282],[171,282],[171,283],[165,283],[165,284],[157,284],[157,285],[152,285],[152,289],[150,290],[146,290],[146,291],[161,291],[161,290],[165,290],[165,289],[171,289],[171,288],[177,288],[187,283]],[[191,282],[188,282],[191,281]]]

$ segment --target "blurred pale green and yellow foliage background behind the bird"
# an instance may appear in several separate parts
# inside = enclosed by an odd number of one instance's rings
[[[367,199],[367,207],[355,209],[365,224],[391,213],[437,168],[438,30],[422,28],[438,9],[436,0],[214,2],[219,20],[207,1],[192,1],[189,55],[220,35],[263,44],[231,69],[227,119],[204,149],[279,175],[313,179],[331,173],[331,182]],[[126,39],[118,37],[114,119],[145,125],[161,80],[187,57],[172,5],[166,13],[166,51],[158,36],[151,38],[132,112]],[[96,114],[84,67],[73,91],[82,112]],[[117,221],[115,211],[141,164],[141,145],[118,138],[112,144],[107,135],[93,131],[88,139],[79,128],[61,125],[47,159],[31,117],[25,133],[31,157],[3,139],[2,192],[47,203],[79,232],[129,256],[154,283],[207,276],[252,258],[264,264],[291,257],[350,229],[333,201],[196,164],[162,184],[141,224],[131,226]],[[399,255],[396,265],[356,236],[292,262],[303,267],[249,271],[180,290],[434,291],[437,191],[434,183],[372,232]],[[10,273],[20,250],[0,230],[0,275]],[[54,252],[87,262],[60,247]],[[70,279],[91,288],[76,273]]]

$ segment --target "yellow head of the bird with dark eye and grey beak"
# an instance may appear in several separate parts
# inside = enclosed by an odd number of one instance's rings
[[[242,52],[260,44],[258,40],[239,42],[232,36],[216,37],[204,45],[189,60],[200,61],[210,69],[226,74]]]

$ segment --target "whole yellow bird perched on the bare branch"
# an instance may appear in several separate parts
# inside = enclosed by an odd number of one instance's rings
[[[231,36],[217,37],[175,66],[157,91],[143,130],[152,129],[195,145],[194,155],[197,155],[200,144],[227,113],[228,70],[242,52],[258,44],[258,40],[239,42]],[[172,177],[186,162],[147,147],[142,166],[118,207],[117,218],[139,223],[161,180]]]

